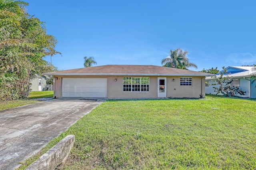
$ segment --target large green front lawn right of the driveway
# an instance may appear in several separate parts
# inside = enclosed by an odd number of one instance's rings
[[[68,134],[76,137],[60,169],[253,170],[255,110],[256,100],[218,96],[108,100],[51,145]],[[39,156],[23,162],[21,169]]]

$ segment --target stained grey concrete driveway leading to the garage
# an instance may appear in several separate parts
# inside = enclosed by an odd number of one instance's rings
[[[105,99],[60,98],[0,111],[0,170],[14,170]]]

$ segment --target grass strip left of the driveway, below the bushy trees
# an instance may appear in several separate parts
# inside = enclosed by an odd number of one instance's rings
[[[52,97],[52,96],[53,96],[53,91],[30,92],[30,95],[28,96],[27,99],[0,102],[0,110],[10,109],[13,107],[40,102],[39,100],[30,100],[30,99]]]

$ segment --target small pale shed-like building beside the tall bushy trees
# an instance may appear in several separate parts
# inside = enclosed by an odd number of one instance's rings
[[[38,74],[35,75],[35,78],[33,78],[30,83],[30,89],[31,91],[46,91],[46,80],[48,80],[49,77],[39,76]]]

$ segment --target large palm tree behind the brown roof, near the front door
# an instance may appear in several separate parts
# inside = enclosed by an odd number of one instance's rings
[[[197,68],[197,65],[194,63],[190,63],[188,57],[186,55],[188,51],[183,51],[180,48],[172,51],[170,50],[170,56],[162,59],[161,64],[165,67],[172,67],[172,68],[180,68],[188,70],[188,67]]]

